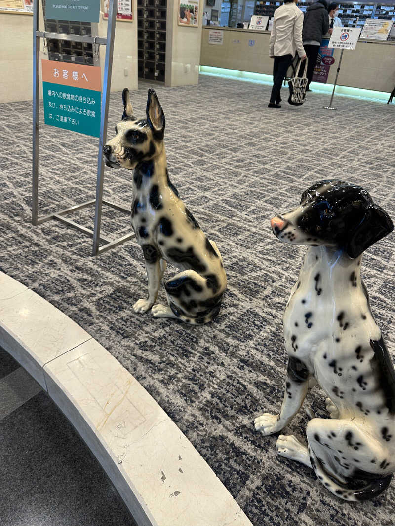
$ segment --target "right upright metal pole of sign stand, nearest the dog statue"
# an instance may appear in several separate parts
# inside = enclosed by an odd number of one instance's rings
[[[102,199],[103,199],[103,179],[104,179],[103,144],[105,144],[106,134],[107,134],[108,103],[110,102],[111,73],[112,73],[113,53],[114,53],[116,8],[117,8],[117,0],[110,0],[110,6],[108,9],[107,45],[106,45],[106,57],[105,57],[105,63],[104,63],[104,77],[103,77],[102,117],[101,117],[101,123],[100,123],[100,140],[99,140],[99,145],[98,145],[98,156],[97,156],[95,224],[94,224],[94,229],[93,229],[93,247],[92,247],[93,256],[96,256],[98,254],[98,246],[100,242],[100,226],[101,226],[101,221],[102,221]]]

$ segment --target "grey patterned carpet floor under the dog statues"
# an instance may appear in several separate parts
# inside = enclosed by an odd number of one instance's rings
[[[147,87],[131,94],[139,117]],[[270,110],[269,93],[269,86],[208,76],[201,76],[199,86],[157,87],[172,182],[218,244],[228,272],[220,316],[210,325],[190,327],[133,312],[146,287],[141,249],[133,242],[92,257],[91,239],[83,234],[57,221],[30,224],[30,102],[0,105],[0,269],[60,308],[120,360],[255,526],[393,524],[394,482],[372,502],[345,503],[312,471],[278,457],[276,438],[256,434],[252,421],[263,410],[276,411],[282,399],[282,312],[304,253],[275,239],[269,219],[298,204],[302,190],[323,178],[365,186],[395,219],[395,108],[337,97],[338,111],[328,112],[322,106],[329,96],[311,93],[301,108],[283,103],[281,110]],[[110,134],[121,115],[117,93]],[[94,197],[97,143],[43,126],[42,214]],[[131,173],[106,168],[105,176],[105,197],[129,206]],[[93,209],[73,219],[91,228]],[[102,225],[114,237],[130,230],[125,214],[106,207]],[[362,268],[390,351],[394,262],[390,235],[368,250]],[[174,268],[165,277],[171,273]],[[314,389],[309,403],[326,417],[322,392]],[[306,422],[302,412],[289,430],[304,439]]]

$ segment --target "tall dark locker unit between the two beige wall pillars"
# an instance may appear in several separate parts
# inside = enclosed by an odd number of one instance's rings
[[[137,0],[139,78],[165,82],[166,0]]]

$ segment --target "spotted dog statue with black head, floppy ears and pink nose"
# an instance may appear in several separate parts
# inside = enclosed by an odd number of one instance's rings
[[[256,418],[255,429],[268,435],[288,426],[315,378],[331,419],[309,421],[308,447],[280,435],[278,453],[313,468],[344,500],[376,497],[395,471],[395,372],[361,260],[392,221],[366,190],[331,180],[306,190],[300,206],[271,226],[279,239],[309,248],[284,312],[289,360],[281,410]]]

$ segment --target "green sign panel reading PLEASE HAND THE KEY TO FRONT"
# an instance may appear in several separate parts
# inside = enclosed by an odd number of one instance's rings
[[[98,22],[100,0],[46,0],[45,18],[75,22]]]

